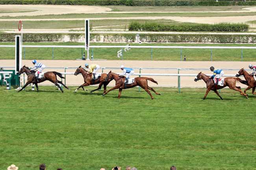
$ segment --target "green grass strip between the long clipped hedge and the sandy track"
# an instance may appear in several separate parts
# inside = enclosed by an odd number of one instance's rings
[[[11,42],[1,42],[0,45],[14,45]],[[77,42],[39,42],[24,45],[83,45]],[[91,43],[91,45],[126,45],[124,43]],[[131,44],[138,46],[139,44]],[[254,46],[254,44],[141,44],[142,46]],[[95,59],[116,60],[117,51],[121,48],[94,48],[90,49],[90,56],[93,50]],[[25,51],[25,52],[24,52]],[[67,59],[73,60],[82,58],[81,48],[25,48],[23,58],[26,59]],[[25,55],[24,55],[25,53]],[[254,49],[243,49],[243,61],[254,61],[256,51]],[[211,49],[182,49],[182,57],[186,55],[188,61],[210,61]],[[213,61],[241,61],[240,49],[213,49]],[[14,59],[15,48],[0,48],[0,59]],[[121,58],[120,58],[121,59]],[[123,53],[124,60],[151,60],[150,48],[131,49]],[[153,60],[180,60],[180,49],[156,49],[152,50]]]

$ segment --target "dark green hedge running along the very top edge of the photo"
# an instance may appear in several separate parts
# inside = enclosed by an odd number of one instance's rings
[[[0,4],[128,5],[128,6],[230,6],[256,5],[256,0],[0,0]]]

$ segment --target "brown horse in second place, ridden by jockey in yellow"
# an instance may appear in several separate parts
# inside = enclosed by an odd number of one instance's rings
[[[78,74],[82,74],[83,75],[83,80],[84,80],[84,83],[79,86],[74,92],[76,93],[76,91],[78,89],[80,89],[82,87],[83,91],[84,88],[83,86],[90,86],[90,85],[93,85],[93,84],[99,84],[98,88],[96,88],[95,90],[92,90],[91,93],[93,91],[96,91],[96,90],[100,90],[101,89],[101,86],[104,85],[104,93],[106,92],[107,90],[107,85],[109,84],[109,81],[107,81],[107,74],[106,73],[102,73],[101,76],[98,78],[98,79],[95,79],[95,80],[92,80],[92,73],[90,74],[87,74],[88,71],[83,69],[81,66],[79,66],[77,69],[76,69],[76,72],[74,73],[74,75],[78,75]]]

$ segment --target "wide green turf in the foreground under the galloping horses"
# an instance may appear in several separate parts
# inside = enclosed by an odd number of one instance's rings
[[[256,96],[205,88],[137,88],[102,97],[75,87],[17,93],[0,86],[0,169],[256,170]],[[95,87],[90,87],[89,90]],[[249,93],[250,94],[250,93]]]

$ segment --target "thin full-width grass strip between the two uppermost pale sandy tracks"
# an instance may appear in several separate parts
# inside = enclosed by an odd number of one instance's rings
[[[253,16],[256,12],[246,13],[98,13],[98,14],[63,14],[63,15],[39,15],[39,16],[3,16],[1,19],[36,19],[36,18],[109,18],[109,17],[142,17],[142,16]]]

